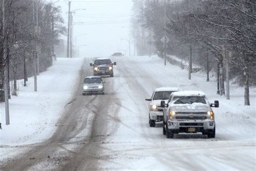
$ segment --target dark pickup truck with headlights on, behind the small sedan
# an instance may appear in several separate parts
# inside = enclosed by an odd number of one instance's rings
[[[90,66],[93,67],[93,76],[110,76],[113,77],[113,65],[117,63],[108,58],[98,58],[94,61],[94,64],[90,63]]]

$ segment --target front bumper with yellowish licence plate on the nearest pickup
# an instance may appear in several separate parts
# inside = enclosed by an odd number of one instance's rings
[[[173,133],[181,132],[207,132],[215,127],[215,121],[206,120],[168,120],[168,129],[172,130]]]

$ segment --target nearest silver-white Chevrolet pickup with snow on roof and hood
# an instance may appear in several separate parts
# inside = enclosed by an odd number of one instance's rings
[[[201,132],[208,138],[215,138],[214,113],[211,107],[219,107],[219,101],[210,104],[201,91],[180,91],[170,95],[164,108],[163,134],[173,138],[173,134]]]

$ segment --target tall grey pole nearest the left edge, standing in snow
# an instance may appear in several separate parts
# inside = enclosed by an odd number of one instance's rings
[[[4,67],[4,103],[5,103],[5,124],[10,125],[10,116],[9,116],[9,99],[8,99],[8,71],[7,65],[5,64],[8,60],[7,58],[7,39],[5,36],[7,32],[6,20],[5,20],[5,1],[2,0],[2,26],[3,26],[3,67]]]

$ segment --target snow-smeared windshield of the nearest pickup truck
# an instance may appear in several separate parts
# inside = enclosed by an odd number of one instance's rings
[[[194,102],[206,104],[205,98],[202,96],[173,97],[173,101],[173,104],[193,104]]]

